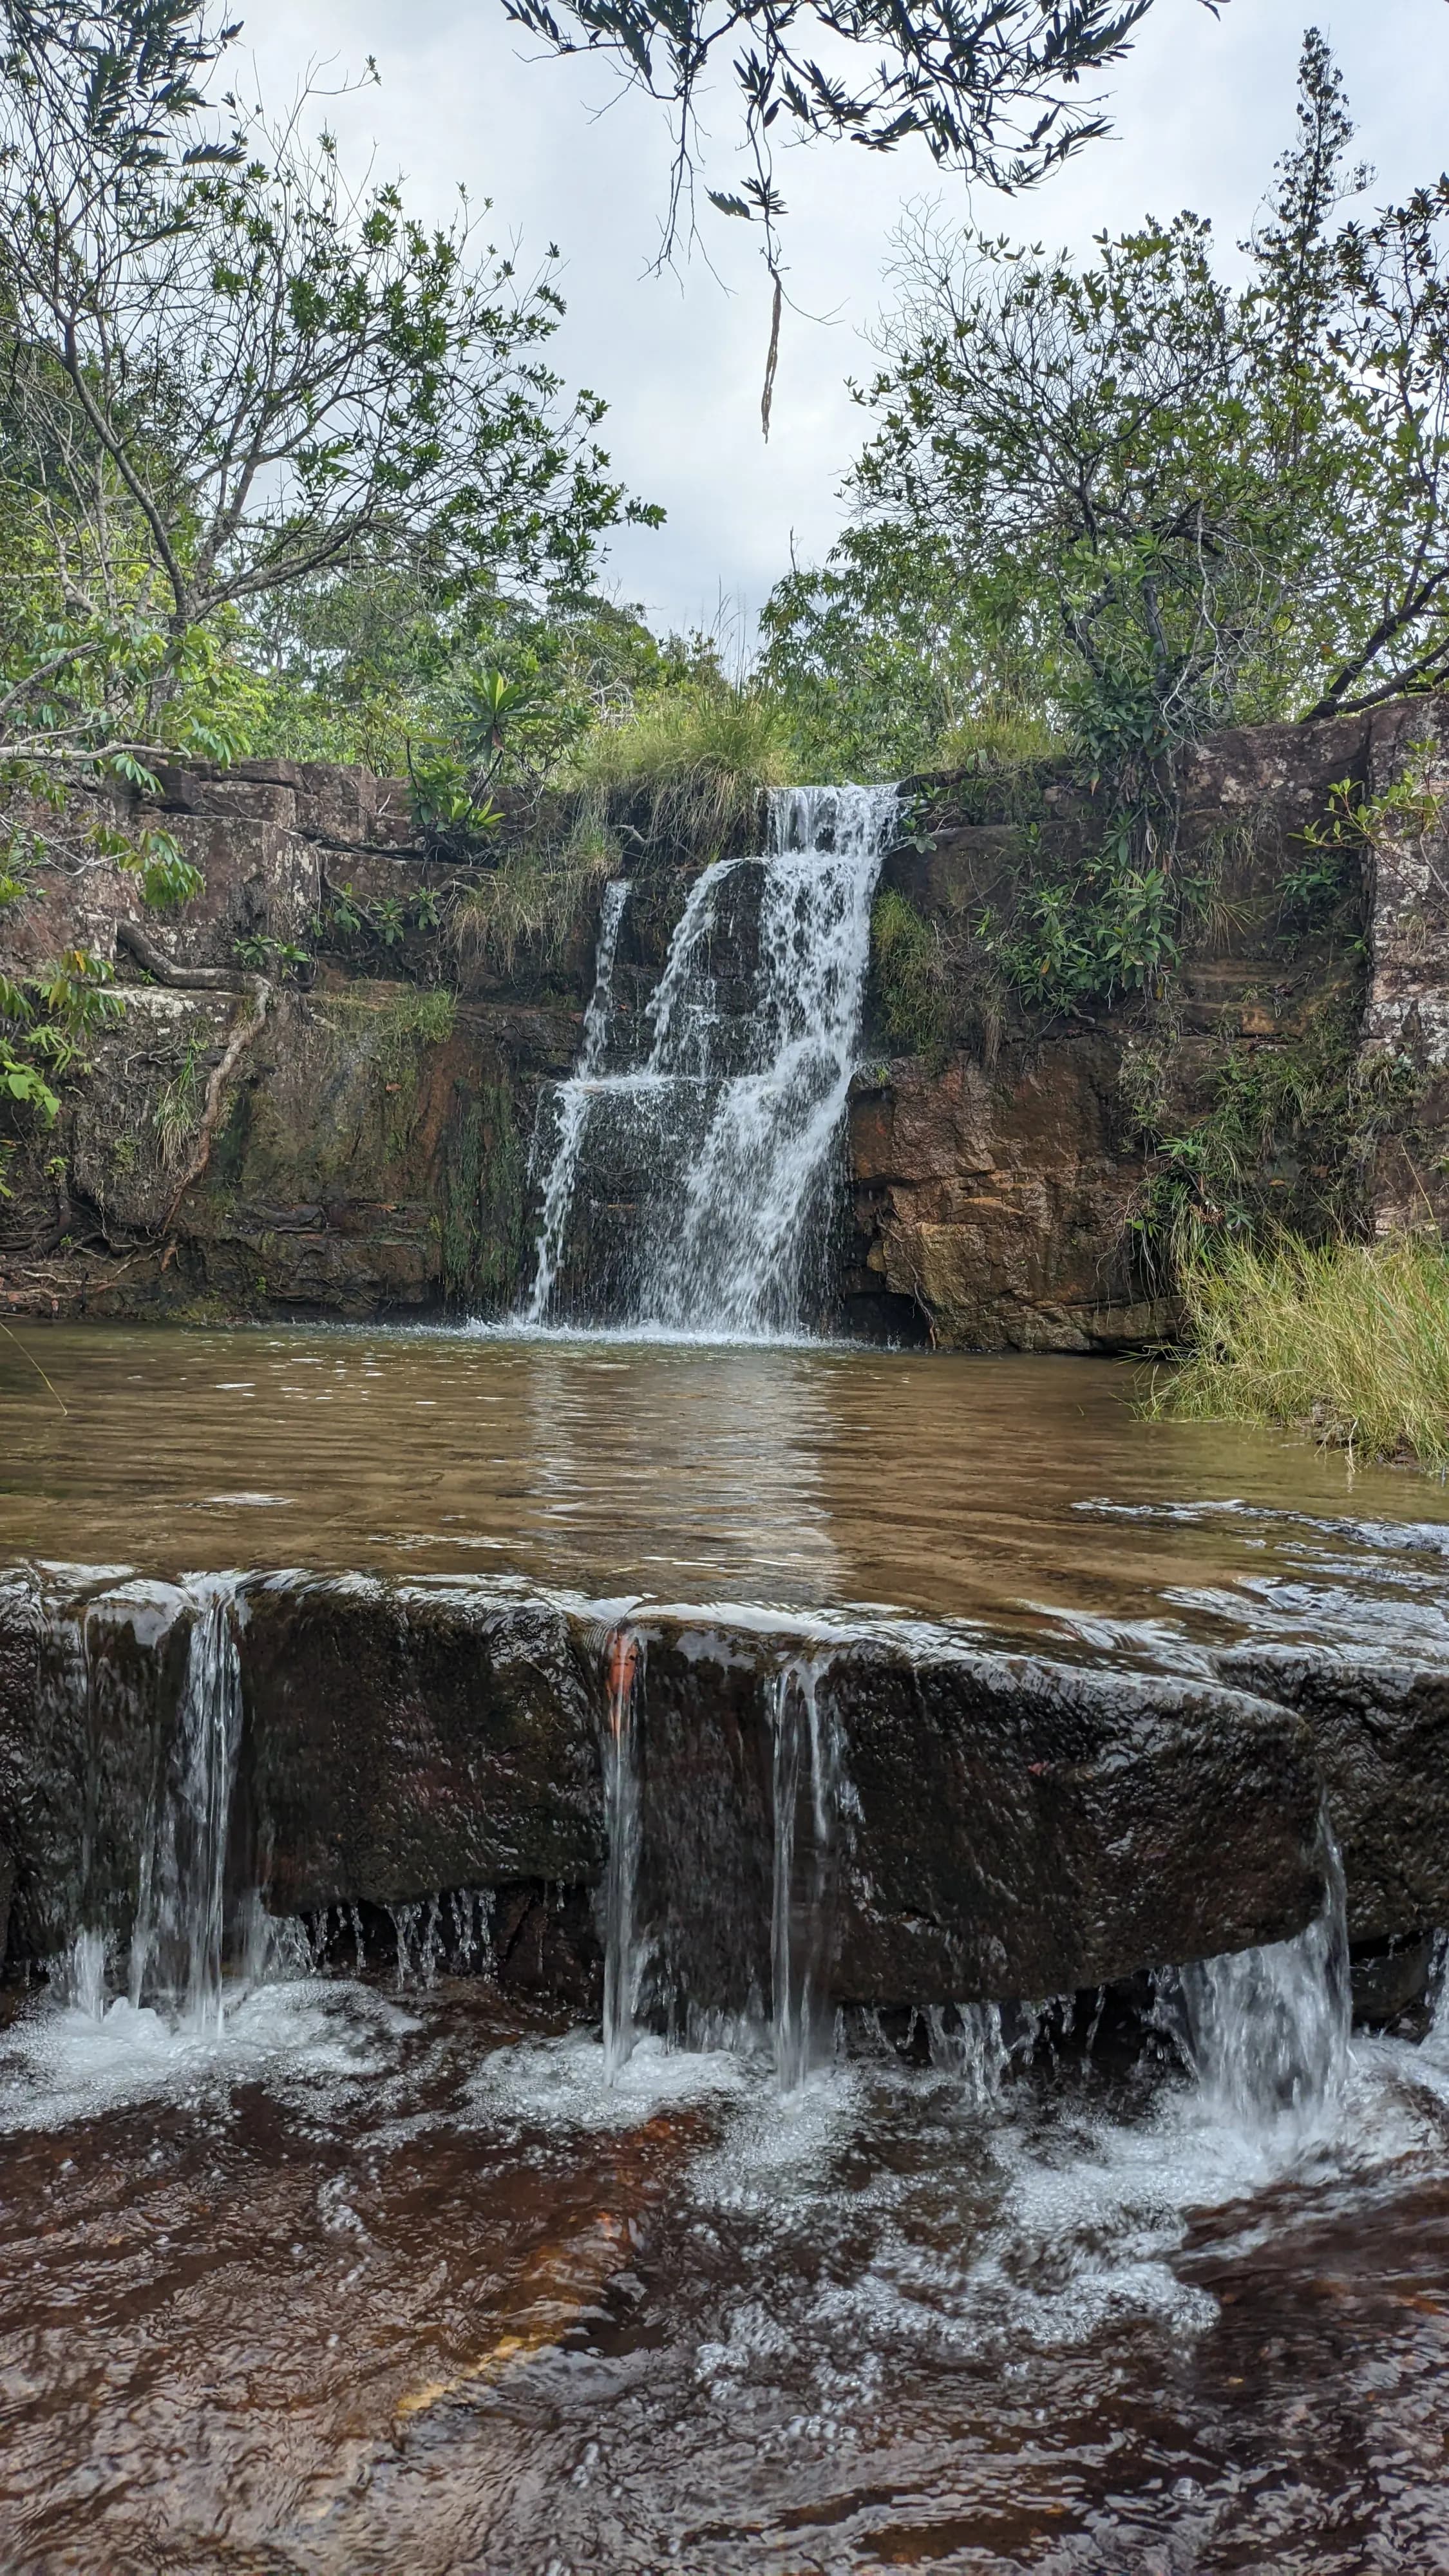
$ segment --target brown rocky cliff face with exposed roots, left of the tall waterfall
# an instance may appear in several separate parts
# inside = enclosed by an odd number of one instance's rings
[[[397,783],[242,762],[162,786],[152,819],[206,878],[180,920],[93,868],[41,876],[8,927],[13,971],[70,945],[113,958],[124,1015],[88,1041],[54,1131],[15,1121],[5,1298],[124,1316],[505,1306],[534,1100],[578,1046],[590,922],[552,976],[503,987],[418,927],[449,871],[415,845]],[[338,896],[389,943],[320,943]],[[175,979],[137,971],[131,930]],[[286,948],[315,953],[307,989],[278,974]]]

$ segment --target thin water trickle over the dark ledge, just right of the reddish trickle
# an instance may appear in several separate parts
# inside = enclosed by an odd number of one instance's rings
[[[804,1837],[802,1837],[804,1824]],[[773,2045],[781,2094],[804,2084],[830,2002],[841,1739],[817,1674],[789,1664],[773,1705]]]

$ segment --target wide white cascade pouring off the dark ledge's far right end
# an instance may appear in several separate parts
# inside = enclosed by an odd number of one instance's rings
[[[1348,1919],[1325,1829],[1328,1896],[1297,1940],[1181,1968],[1186,2045],[1207,2105],[1248,2136],[1312,2136],[1348,2074]]]

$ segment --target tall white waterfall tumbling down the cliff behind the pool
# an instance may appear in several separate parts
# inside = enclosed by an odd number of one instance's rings
[[[799,1329],[895,814],[895,788],[773,791],[768,850],[714,860],[694,881],[647,1007],[647,1059],[614,1074],[601,1069],[601,1033],[616,922],[601,933],[593,1028],[557,1092],[529,1321],[552,1311],[578,1182],[598,1164],[598,1195],[621,1226],[621,1321],[753,1340]],[[750,894],[753,963],[740,927]],[[740,969],[735,999],[748,984],[745,1007],[722,1005],[717,938]]]

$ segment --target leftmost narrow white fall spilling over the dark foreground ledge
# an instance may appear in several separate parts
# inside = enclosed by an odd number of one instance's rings
[[[131,2004],[162,1994],[196,2030],[222,2030],[227,1819],[242,1739],[235,1577],[193,1584],[175,1741],[142,1857]]]

